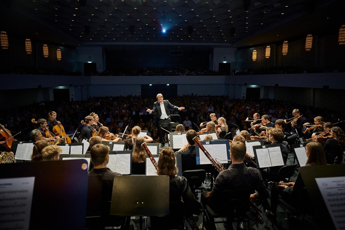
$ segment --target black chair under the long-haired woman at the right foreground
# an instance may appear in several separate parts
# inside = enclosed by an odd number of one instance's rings
[[[311,207],[311,200],[308,196],[307,189],[304,187],[302,188],[298,195],[295,204],[298,204],[297,206],[292,205],[292,202],[288,202],[284,200],[282,197],[278,199],[278,204],[286,211],[287,213],[287,219],[289,220],[289,229],[291,228],[291,219],[290,216],[299,216],[303,214],[302,223],[304,221],[305,215],[311,213],[311,209],[308,207]]]

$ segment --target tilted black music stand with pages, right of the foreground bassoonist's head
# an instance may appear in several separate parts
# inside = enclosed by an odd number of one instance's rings
[[[277,152],[270,152],[269,150],[275,148],[274,150],[277,150],[277,147],[279,147],[279,154]],[[265,153],[261,150],[267,149],[268,152]],[[282,149],[280,148],[280,144],[268,144],[266,146],[253,146],[254,150],[254,156],[255,156],[255,162],[257,165],[257,168],[266,168],[266,167],[274,167],[274,166],[283,166],[284,160],[283,160],[283,153]],[[261,163],[261,165],[260,165]]]

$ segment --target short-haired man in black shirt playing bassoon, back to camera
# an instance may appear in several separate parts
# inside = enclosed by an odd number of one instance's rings
[[[223,206],[221,191],[231,190],[250,194],[250,200],[255,203],[257,198],[267,199],[268,191],[264,181],[257,169],[246,167],[243,159],[246,155],[246,145],[243,142],[235,141],[230,145],[230,167],[218,174],[214,187],[210,192],[203,192],[202,204],[210,206],[217,211]],[[255,190],[257,192],[255,192]],[[248,196],[249,197],[249,196]],[[232,223],[226,223],[227,229],[232,229]],[[213,226],[215,229],[215,226]]]

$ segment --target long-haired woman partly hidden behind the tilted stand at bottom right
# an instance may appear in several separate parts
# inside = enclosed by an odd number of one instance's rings
[[[306,162],[306,166],[304,167],[312,167],[312,166],[319,166],[319,165],[327,165],[326,158],[325,158],[325,151],[322,147],[321,143],[318,142],[309,142],[305,147],[305,152],[307,154],[308,160]],[[284,182],[284,181],[280,181]],[[293,207],[298,208],[297,196],[299,191],[305,187],[300,174],[298,174],[296,178],[296,182],[289,182],[292,186],[286,185],[272,185],[271,186],[271,210],[265,210],[265,215],[275,222],[276,220],[276,211],[278,207],[278,198],[279,195],[290,205]],[[295,214],[295,218],[298,219],[298,214]],[[287,220],[287,218],[285,218]]]

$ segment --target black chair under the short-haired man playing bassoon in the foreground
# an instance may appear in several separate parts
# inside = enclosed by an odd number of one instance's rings
[[[204,207],[204,216],[203,216],[203,230],[205,224],[211,226],[210,224],[216,223],[230,223],[236,221],[237,229],[239,228],[240,222],[247,221],[248,230],[250,229],[249,218],[247,211],[249,211],[249,192],[239,192],[239,191],[230,191],[224,190],[221,191],[220,197],[218,198],[221,207],[217,210],[213,210],[210,206],[206,205]],[[210,221],[210,218],[213,220],[215,218],[220,218],[219,221]],[[224,220],[226,218],[227,220]]]

